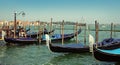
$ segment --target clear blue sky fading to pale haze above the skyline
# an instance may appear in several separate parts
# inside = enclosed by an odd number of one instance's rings
[[[0,20],[119,23],[120,0],[0,0]]]

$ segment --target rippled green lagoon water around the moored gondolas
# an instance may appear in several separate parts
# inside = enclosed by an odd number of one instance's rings
[[[64,32],[71,33],[74,31],[65,30]],[[60,33],[60,30],[55,30],[55,33]],[[90,31],[90,33],[95,37],[94,31]],[[116,32],[113,36],[119,38],[119,34],[120,33]],[[80,42],[83,42],[83,35],[84,31],[78,36]],[[110,37],[109,35],[110,32],[101,31],[99,33],[99,41]],[[70,42],[74,40],[75,38]],[[98,61],[93,57],[92,53],[89,52],[65,54],[51,52],[46,45],[5,46],[4,41],[0,41],[0,44],[0,65],[120,65],[119,62]]]

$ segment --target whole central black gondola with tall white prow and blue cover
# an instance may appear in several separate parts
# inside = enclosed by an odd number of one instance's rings
[[[49,35],[46,34],[46,44],[52,52],[58,53],[85,53],[89,52],[89,46],[85,46],[84,44],[52,44],[49,38]]]

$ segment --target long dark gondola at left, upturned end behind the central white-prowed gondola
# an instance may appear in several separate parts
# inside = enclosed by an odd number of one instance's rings
[[[76,33],[80,33],[80,30]],[[76,34],[75,34],[76,35]],[[75,36],[73,33],[72,34],[65,34],[64,35],[64,39],[65,40],[69,40],[71,38],[73,38]],[[42,38],[41,39],[41,42],[39,42],[38,39],[34,39],[34,38],[31,38],[31,37],[22,37],[22,38],[9,38],[9,37],[4,37],[4,40],[5,42],[7,43],[13,43],[13,44],[31,44],[31,43],[45,43],[46,42],[46,39]],[[59,40],[62,40],[62,37],[59,37],[59,38],[53,38],[52,41],[59,41]]]

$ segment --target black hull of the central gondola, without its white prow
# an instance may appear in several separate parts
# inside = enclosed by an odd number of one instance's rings
[[[55,45],[55,44],[49,44],[49,48],[52,52],[57,53],[85,53],[89,52],[88,46],[77,46],[78,44],[72,44],[72,47],[67,46],[69,44],[66,44],[66,46],[62,45]],[[77,46],[77,47],[76,47]]]

